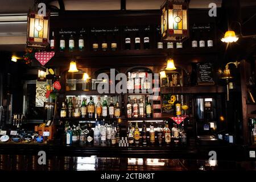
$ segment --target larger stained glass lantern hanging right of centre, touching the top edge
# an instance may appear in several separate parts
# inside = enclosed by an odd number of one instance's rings
[[[166,1],[161,6],[162,39],[181,42],[188,38],[188,4],[184,1]]]

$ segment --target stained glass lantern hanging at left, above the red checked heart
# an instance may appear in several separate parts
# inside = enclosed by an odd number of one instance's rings
[[[49,13],[39,15],[29,13],[27,16],[27,46],[47,47],[49,39]]]

